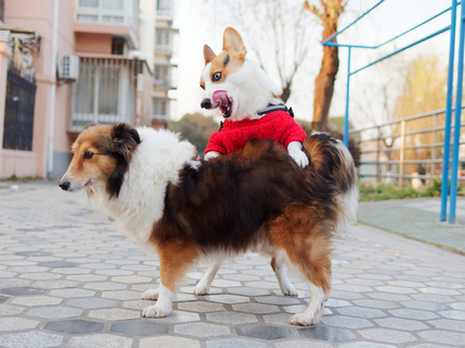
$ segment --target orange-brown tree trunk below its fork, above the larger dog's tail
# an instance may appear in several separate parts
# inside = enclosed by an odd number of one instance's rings
[[[338,16],[339,17],[339,16]],[[330,18],[328,15],[323,22],[323,40],[338,30],[338,17]],[[335,40],[334,40],[335,41]],[[319,132],[328,132],[328,114],[334,94],[334,79],[339,70],[338,47],[323,46],[323,58],[320,73],[315,79],[314,121],[311,128]]]

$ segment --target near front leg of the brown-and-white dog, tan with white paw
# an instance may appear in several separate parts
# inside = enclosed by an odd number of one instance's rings
[[[179,278],[184,275],[185,270],[197,258],[198,250],[185,243],[169,240],[158,246],[160,256],[160,287],[155,293],[158,297],[155,306],[149,306],[143,311],[143,316],[161,318],[170,314],[172,309],[172,300],[175,296],[174,289]],[[147,294],[146,291],[144,294]]]

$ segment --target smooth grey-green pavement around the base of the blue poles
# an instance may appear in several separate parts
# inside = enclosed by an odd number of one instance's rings
[[[448,207],[449,209],[449,207]],[[457,198],[454,224],[439,221],[441,199],[360,202],[358,221],[465,256],[465,198]]]

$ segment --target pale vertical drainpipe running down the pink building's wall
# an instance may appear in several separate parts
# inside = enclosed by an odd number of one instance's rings
[[[50,115],[48,124],[48,156],[47,156],[47,174],[53,172],[53,134],[54,134],[54,101],[57,92],[57,50],[58,50],[58,9],[59,0],[53,0],[53,27],[51,38],[51,71],[50,71]]]

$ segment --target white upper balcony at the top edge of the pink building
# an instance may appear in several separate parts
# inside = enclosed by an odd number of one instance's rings
[[[74,32],[110,34],[137,48],[137,0],[75,0]]]

